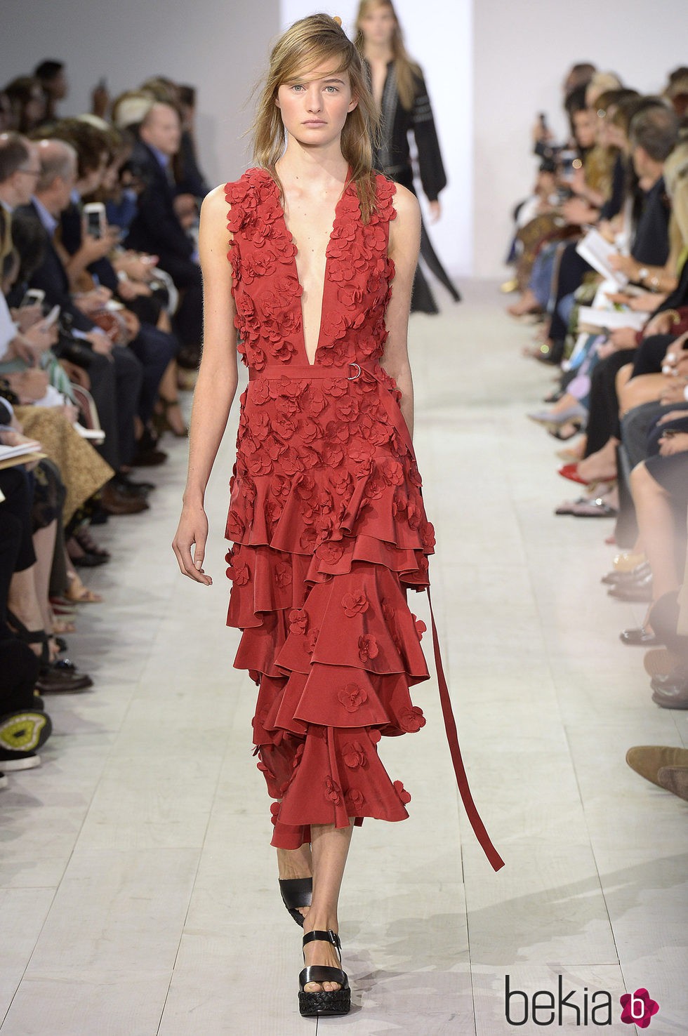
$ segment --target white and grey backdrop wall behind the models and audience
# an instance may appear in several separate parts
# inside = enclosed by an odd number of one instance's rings
[[[528,192],[536,161],[529,130],[546,111],[564,131],[561,82],[574,61],[615,69],[629,85],[658,89],[687,60],[688,4],[661,0],[397,0],[409,50],[423,65],[450,185],[432,228],[447,266],[459,276],[499,277],[510,212]],[[47,57],[65,60],[71,90],[64,114],[88,107],[102,76],[113,94],[154,74],[199,91],[202,166],[212,183],[247,164],[242,134],[251,88],[280,28],[324,7],[350,28],[355,0],[59,0],[31,10],[3,0],[0,82]],[[336,8],[336,9],[333,9]]]

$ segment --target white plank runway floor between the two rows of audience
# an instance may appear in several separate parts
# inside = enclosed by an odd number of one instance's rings
[[[638,987],[660,1005],[643,1032],[688,1031],[688,806],[624,760],[631,745],[688,744],[688,714],[652,702],[642,651],[619,640],[643,606],[600,585],[611,523],[553,516],[576,487],[523,416],[551,373],[521,357],[533,332],[503,305],[474,284],[442,317],[413,317],[411,358],[433,603],[474,795],[506,866],[492,872],[459,808],[436,684],[421,685],[427,726],[381,746],[411,818],[354,833],[341,905],[354,1006],[319,1034],[542,1032],[507,1020],[506,975],[531,1004],[556,997],[560,975],[576,990],[580,1024],[565,1007],[545,1032],[597,1031],[583,1027],[586,989],[590,1005],[611,995],[601,1031],[635,1034],[619,998]],[[48,700],[42,768],[10,775],[0,797],[2,1036],[316,1031],[298,1015],[300,933],[251,757],[255,689],[224,626],[233,431],[208,493],[210,589],[176,571],[185,443],[165,445],[152,510],[95,530],[115,558],[88,580],[106,603],[83,606],[69,637],[95,688]],[[413,604],[428,621],[425,596]],[[512,1004],[521,1020],[523,998]]]

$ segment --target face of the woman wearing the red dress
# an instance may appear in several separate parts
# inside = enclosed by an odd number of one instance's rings
[[[322,147],[339,139],[357,100],[351,95],[349,74],[321,64],[283,83],[275,104],[291,137],[306,147]]]

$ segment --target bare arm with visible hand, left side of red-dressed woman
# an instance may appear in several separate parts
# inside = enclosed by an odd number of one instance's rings
[[[232,271],[227,260],[227,208],[221,186],[210,192],[201,207],[203,352],[194,392],[183,508],[172,543],[181,572],[206,585],[212,580],[203,572],[208,534],[203,498],[237,384]]]

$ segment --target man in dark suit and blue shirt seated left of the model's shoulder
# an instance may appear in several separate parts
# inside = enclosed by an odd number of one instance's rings
[[[200,352],[203,295],[196,246],[175,209],[177,189],[172,164],[181,140],[176,108],[160,102],[151,104],[138,137],[132,163],[143,173],[146,186],[139,196],[126,244],[159,256],[161,269],[167,270],[180,289],[174,329],[182,345],[180,359],[185,361],[185,366],[195,366]]]

